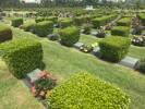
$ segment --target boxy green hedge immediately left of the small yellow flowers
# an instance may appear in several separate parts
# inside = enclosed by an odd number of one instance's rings
[[[75,26],[65,27],[59,31],[61,44],[73,46],[80,39],[80,31]]]

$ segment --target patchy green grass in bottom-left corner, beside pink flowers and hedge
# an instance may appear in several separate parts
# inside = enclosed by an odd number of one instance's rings
[[[8,71],[0,60],[0,109],[44,109],[24,86]]]

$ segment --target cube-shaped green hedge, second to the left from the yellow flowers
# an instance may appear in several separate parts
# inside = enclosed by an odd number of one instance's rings
[[[53,32],[53,23],[51,21],[39,22],[35,25],[35,34],[46,37]]]

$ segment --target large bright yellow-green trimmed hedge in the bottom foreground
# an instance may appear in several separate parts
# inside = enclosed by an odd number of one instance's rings
[[[120,88],[88,73],[77,73],[57,86],[50,109],[128,109],[130,98]]]

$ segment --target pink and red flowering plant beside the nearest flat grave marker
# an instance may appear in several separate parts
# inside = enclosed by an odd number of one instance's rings
[[[31,92],[38,99],[46,99],[50,95],[50,90],[57,85],[57,80],[46,71],[40,72],[38,80],[32,81]]]

